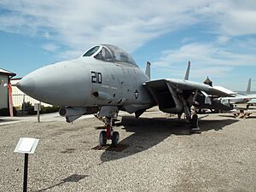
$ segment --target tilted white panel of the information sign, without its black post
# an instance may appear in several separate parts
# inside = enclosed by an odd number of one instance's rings
[[[30,137],[20,137],[20,140],[15,148],[15,153],[21,154],[34,154],[39,139],[30,138]]]

